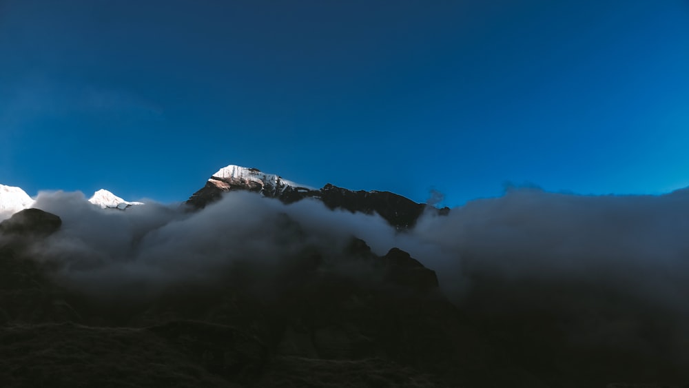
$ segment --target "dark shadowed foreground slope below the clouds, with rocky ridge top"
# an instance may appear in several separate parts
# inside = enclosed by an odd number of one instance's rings
[[[57,281],[56,263],[34,253],[59,228],[54,216],[23,212],[3,225],[1,387],[689,382],[683,365],[662,352],[573,344],[551,312],[515,306],[497,314],[476,303],[510,303],[507,283],[481,289],[475,279],[479,286],[456,307],[440,294],[435,273],[409,254],[391,249],[378,256],[357,238],[342,252],[305,249],[270,267],[247,257],[212,281],[189,279],[136,298],[96,297]],[[566,292],[566,285],[532,289],[543,298]]]

